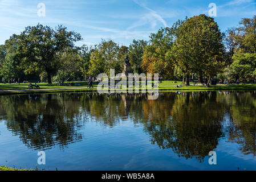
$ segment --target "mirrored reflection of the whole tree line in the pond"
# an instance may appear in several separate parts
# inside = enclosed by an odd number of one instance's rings
[[[145,94],[1,96],[0,120],[27,147],[41,150],[84,140],[83,127],[92,119],[112,128],[129,121],[143,125],[160,149],[202,162],[224,136],[255,156],[255,96],[255,91],[160,93],[157,100]]]

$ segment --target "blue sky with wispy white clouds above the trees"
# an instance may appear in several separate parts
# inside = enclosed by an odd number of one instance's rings
[[[46,6],[44,17],[38,16],[39,3]],[[209,3],[217,5],[214,19],[221,31],[256,15],[256,0],[0,0],[0,44],[41,23],[79,32],[84,40],[78,46],[94,45],[101,38],[128,46],[185,16],[208,15]]]

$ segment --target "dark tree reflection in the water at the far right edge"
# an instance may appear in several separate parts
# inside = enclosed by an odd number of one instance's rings
[[[256,93],[235,92],[229,96],[229,139],[239,144],[243,154],[256,155]]]

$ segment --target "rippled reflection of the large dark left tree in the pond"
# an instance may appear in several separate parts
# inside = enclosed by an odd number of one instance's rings
[[[35,149],[55,144],[63,147],[81,140],[75,119],[78,107],[74,107],[74,101],[63,97],[52,94],[2,97],[7,128],[19,135],[29,148]]]

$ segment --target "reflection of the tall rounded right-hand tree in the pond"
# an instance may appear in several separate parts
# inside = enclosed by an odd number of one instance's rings
[[[222,135],[224,107],[216,102],[216,92],[183,94],[174,95],[173,101],[160,101],[159,104],[166,106],[160,113],[164,117],[149,119],[145,129],[151,134],[153,144],[172,148],[186,159],[194,156],[201,161],[216,148]],[[148,107],[153,111],[156,104]]]

